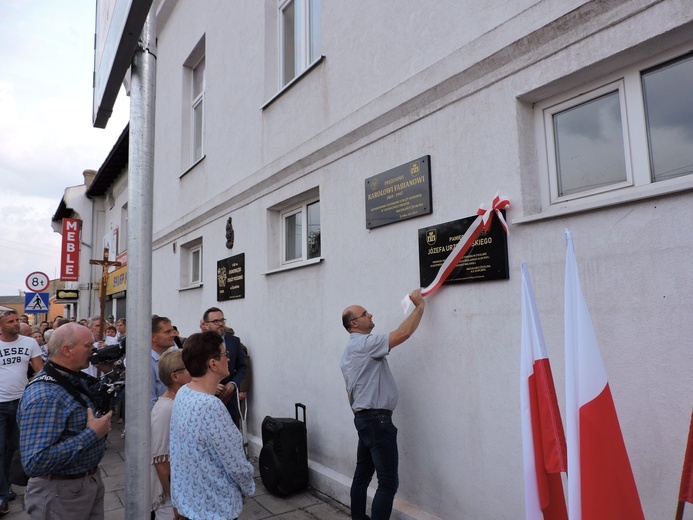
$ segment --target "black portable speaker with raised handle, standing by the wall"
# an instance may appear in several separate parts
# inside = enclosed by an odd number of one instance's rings
[[[260,477],[267,491],[285,496],[308,485],[306,406],[296,403],[296,418],[265,417],[262,421]],[[303,421],[298,420],[298,409]]]

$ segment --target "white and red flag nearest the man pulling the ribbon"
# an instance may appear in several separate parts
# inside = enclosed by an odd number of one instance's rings
[[[522,262],[520,401],[525,518],[566,520],[566,441],[532,282]]]

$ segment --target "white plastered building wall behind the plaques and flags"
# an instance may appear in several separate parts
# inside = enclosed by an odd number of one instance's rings
[[[325,59],[261,110],[276,93],[267,84],[274,2],[163,2],[153,312],[188,335],[204,309],[221,307],[252,355],[254,450],[265,415],[305,403],[311,482],[348,503],[357,437],[339,371],[341,311],[362,304],[375,332],[394,329],[400,299],[418,285],[417,230],[472,215],[500,190],[512,203],[510,280],[444,287],[390,357],[397,518],[523,516],[519,265],[532,275],[564,403],[565,228],[645,516],[670,517],[692,382],[690,192],[536,218],[533,104],[675,46],[685,52],[693,12],[676,0],[495,4],[323,2]],[[186,171],[183,63],[203,35],[206,157]],[[367,230],[364,179],[426,154],[433,213]],[[316,187],[323,261],[268,274],[268,209]],[[199,238],[203,285],[181,290],[181,246]],[[218,303],[216,262],[239,253],[246,297]]]

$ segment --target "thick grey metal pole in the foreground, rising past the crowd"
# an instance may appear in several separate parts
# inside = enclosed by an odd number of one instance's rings
[[[132,62],[128,174],[128,390],[125,392],[125,517],[151,509],[152,201],[156,14],[150,9]]]

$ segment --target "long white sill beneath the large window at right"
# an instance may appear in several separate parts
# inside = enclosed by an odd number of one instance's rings
[[[617,192],[603,193],[584,200],[552,204],[545,211],[533,215],[526,215],[512,219],[513,224],[528,224],[540,220],[548,220],[556,217],[591,211],[609,206],[617,206],[628,202],[635,202],[664,195],[676,194],[693,190],[693,175],[686,175],[668,181],[654,182],[644,186],[633,186]]]

